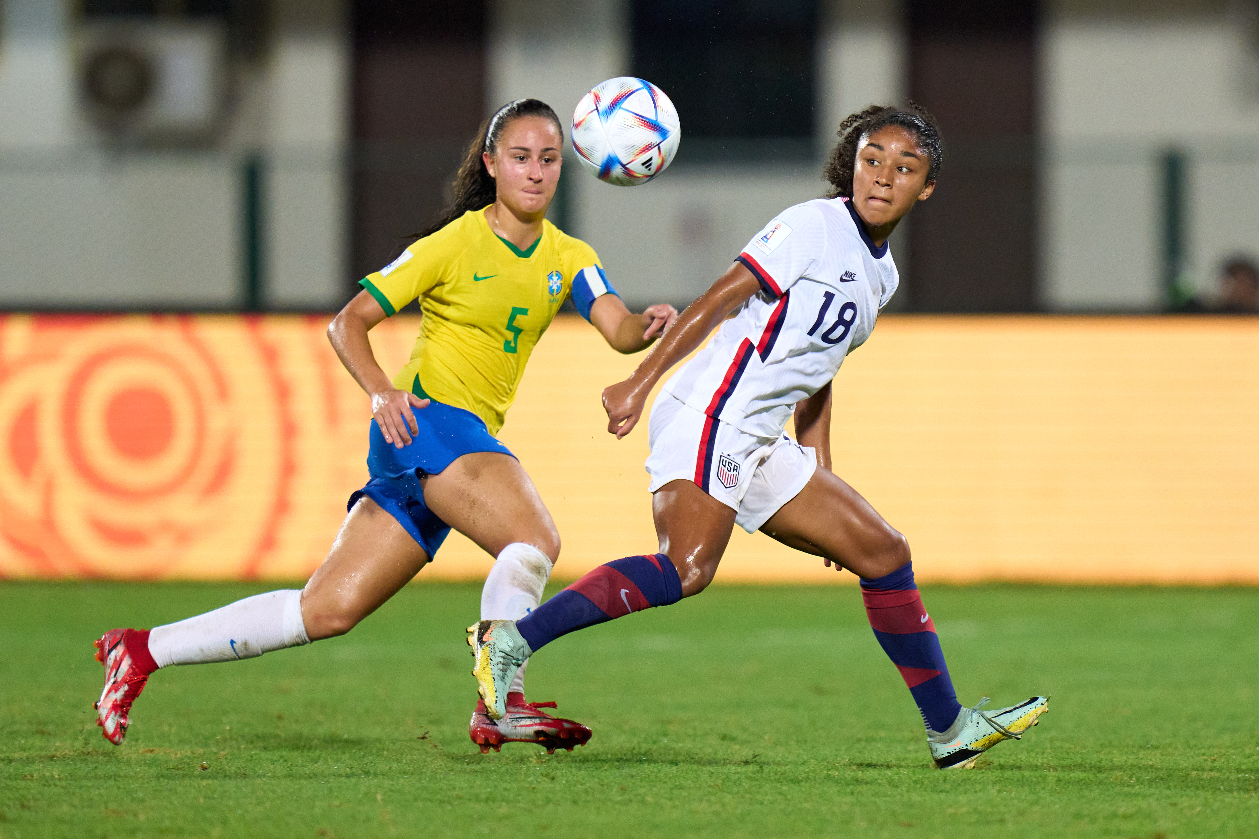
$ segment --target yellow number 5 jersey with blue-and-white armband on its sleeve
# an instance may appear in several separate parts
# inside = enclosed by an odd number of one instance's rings
[[[423,321],[395,387],[472,411],[490,434],[502,428],[534,345],[572,294],[590,319],[616,294],[590,245],[543,221],[521,250],[496,235],[485,210],[465,213],[359,281],[394,314],[419,299]]]

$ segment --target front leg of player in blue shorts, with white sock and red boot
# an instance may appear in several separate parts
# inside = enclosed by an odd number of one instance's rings
[[[559,558],[559,532],[533,481],[515,458],[477,452],[457,458],[439,474],[422,478],[424,503],[447,525],[497,557],[481,596],[482,620],[519,619],[538,606],[551,566]],[[590,738],[579,722],[543,708],[554,702],[525,698],[528,660],[504,686],[502,713],[491,717],[483,701],[468,721],[468,737],[481,752],[505,742],[535,742],[553,752]],[[492,702],[492,699],[491,699]]]

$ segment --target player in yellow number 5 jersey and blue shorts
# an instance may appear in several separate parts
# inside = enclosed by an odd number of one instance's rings
[[[564,132],[536,99],[481,127],[442,219],[361,281],[329,340],[371,399],[368,484],[324,565],[301,591],[271,591],[151,630],[113,629],[96,642],[106,667],[97,722],[121,743],[132,702],[161,667],[251,658],[341,635],[432,561],[451,528],[495,557],[481,595],[486,620],[535,608],[559,557],[559,533],[529,475],[494,435],[525,364],[565,298],[619,352],[637,352],[677,317],[656,304],[631,313],[594,250],[546,221]],[[392,380],[368,331],[418,299],[421,333]],[[592,394],[593,397],[593,394]],[[530,741],[572,750],[590,731],[524,697],[521,665],[507,714],[478,702],[468,733],[481,751]]]

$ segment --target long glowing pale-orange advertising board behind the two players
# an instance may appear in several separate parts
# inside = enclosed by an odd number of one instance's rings
[[[0,316],[0,577],[301,579],[365,479],[365,397],[325,317]],[[418,321],[371,333],[397,367]],[[1259,322],[885,317],[836,385],[837,472],[922,579],[1259,582]],[[655,550],[637,358],[575,317],[502,438],[564,538],[556,576]],[[481,576],[452,535],[424,577]],[[737,531],[723,581],[846,581]]]

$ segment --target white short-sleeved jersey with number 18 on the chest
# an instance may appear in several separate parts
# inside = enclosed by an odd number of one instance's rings
[[[738,257],[762,291],[665,384],[691,408],[748,434],[779,436],[796,403],[838,372],[899,282],[847,199],[788,208]]]

